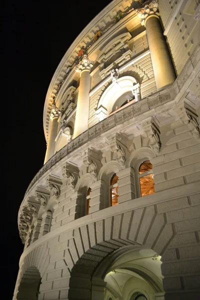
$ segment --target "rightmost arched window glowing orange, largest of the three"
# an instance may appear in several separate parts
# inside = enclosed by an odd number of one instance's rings
[[[155,192],[152,164],[149,160],[145,160],[140,164],[138,178],[141,197]]]

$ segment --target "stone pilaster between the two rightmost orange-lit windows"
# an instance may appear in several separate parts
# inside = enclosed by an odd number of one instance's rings
[[[135,198],[134,170],[127,167],[116,173],[118,176],[118,203]]]

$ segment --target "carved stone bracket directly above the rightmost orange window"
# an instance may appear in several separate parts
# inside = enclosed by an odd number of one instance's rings
[[[160,141],[160,131],[158,127],[152,121],[144,122],[141,125],[146,136],[150,140],[149,146],[155,153],[159,153],[161,148],[161,141]]]

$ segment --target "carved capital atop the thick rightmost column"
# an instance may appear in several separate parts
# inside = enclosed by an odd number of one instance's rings
[[[158,0],[153,0],[146,4],[143,8],[135,9],[136,14],[139,16],[141,24],[145,25],[145,20],[149,15],[159,17]]]

